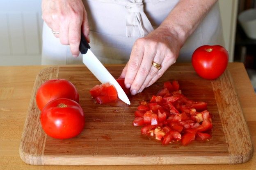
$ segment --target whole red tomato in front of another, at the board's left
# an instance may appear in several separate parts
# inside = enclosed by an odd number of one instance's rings
[[[43,107],[40,121],[47,135],[57,139],[68,139],[82,132],[85,115],[75,101],[57,98]]]

